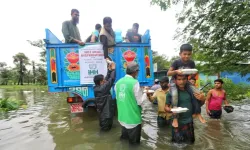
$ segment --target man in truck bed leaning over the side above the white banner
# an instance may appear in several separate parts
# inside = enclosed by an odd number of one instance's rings
[[[110,17],[103,18],[103,28],[100,31],[100,42],[103,44],[104,58],[112,61],[109,53],[114,52],[115,33],[112,29],[112,19]]]

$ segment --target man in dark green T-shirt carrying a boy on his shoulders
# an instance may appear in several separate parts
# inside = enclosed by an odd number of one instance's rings
[[[175,75],[174,81],[178,87],[178,107],[187,108],[188,111],[173,115],[173,118],[178,117],[178,127],[172,127],[172,141],[177,143],[194,143],[194,126],[192,117],[192,99],[195,98],[191,91],[187,89],[187,76]],[[167,94],[166,110],[171,105],[171,94]]]

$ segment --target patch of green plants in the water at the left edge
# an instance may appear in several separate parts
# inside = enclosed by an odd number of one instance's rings
[[[0,98],[0,111],[17,110],[20,106],[25,107],[24,101]]]

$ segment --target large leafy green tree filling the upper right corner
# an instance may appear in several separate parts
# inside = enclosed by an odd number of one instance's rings
[[[177,15],[179,24],[175,38],[194,45],[194,58],[207,73],[250,71],[250,1],[248,0],[152,0],[166,10],[183,4]]]

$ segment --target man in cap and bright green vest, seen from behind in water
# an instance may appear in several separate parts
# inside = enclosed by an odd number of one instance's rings
[[[118,121],[122,126],[121,139],[128,140],[130,145],[138,145],[141,140],[141,105],[142,91],[137,80],[139,65],[135,62],[127,64],[126,75],[117,81],[116,101]]]

